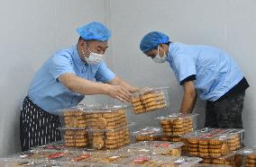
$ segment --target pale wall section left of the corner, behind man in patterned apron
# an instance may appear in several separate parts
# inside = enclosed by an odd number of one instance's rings
[[[0,156],[20,151],[19,113],[32,75],[59,48],[76,44],[76,28],[105,22],[104,0],[6,0],[0,5]]]

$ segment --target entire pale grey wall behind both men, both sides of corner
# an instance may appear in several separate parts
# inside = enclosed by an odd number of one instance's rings
[[[207,44],[231,53],[251,84],[243,121],[246,144],[256,145],[254,0],[22,0],[0,5],[0,156],[20,150],[19,110],[32,75],[59,48],[78,40],[80,25],[105,22],[113,31],[105,61],[117,75],[141,86],[165,86],[170,90],[170,109],[132,119],[141,125],[157,125],[154,117],[178,111],[182,88],[168,65],[156,65],[142,56],[139,41],[148,31],[165,31],[173,41]],[[109,101],[97,96],[83,102]],[[204,101],[197,101],[204,123]]]

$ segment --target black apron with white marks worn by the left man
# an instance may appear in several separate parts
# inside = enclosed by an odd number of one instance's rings
[[[20,117],[20,140],[22,151],[32,146],[45,145],[60,140],[57,129],[60,126],[59,117],[42,110],[29,97],[23,101]]]

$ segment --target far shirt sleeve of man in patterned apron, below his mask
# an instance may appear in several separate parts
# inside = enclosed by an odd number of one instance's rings
[[[105,65],[104,61],[102,61],[96,72],[96,81],[108,83],[113,80],[114,77],[114,73]]]

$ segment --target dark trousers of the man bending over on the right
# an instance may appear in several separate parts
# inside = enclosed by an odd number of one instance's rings
[[[207,101],[205,127],[243,128],[244,95],[245,91],[227,96],[219,101]]]

